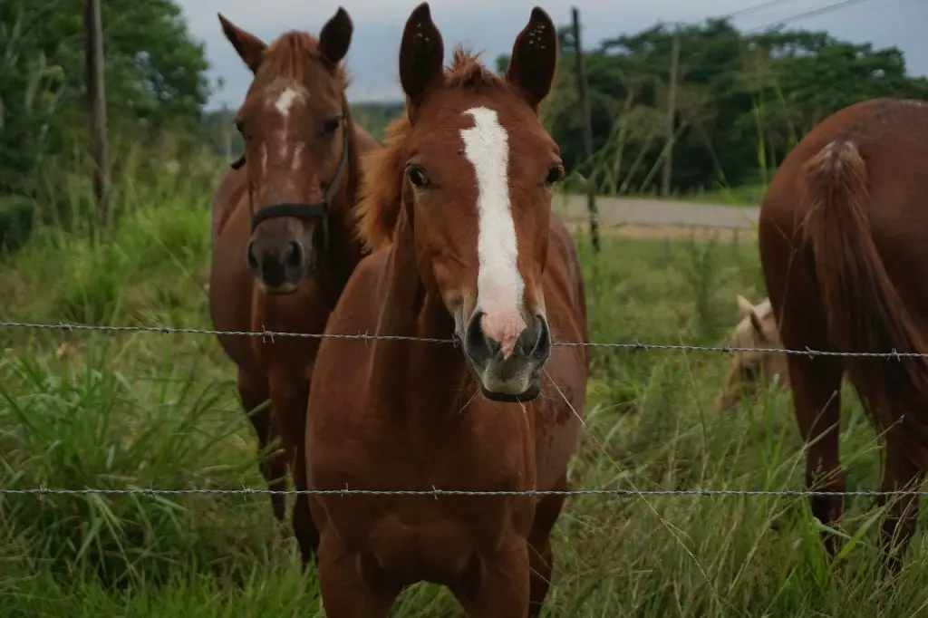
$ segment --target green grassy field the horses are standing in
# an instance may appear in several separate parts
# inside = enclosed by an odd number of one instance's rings
[[[76,190],[76,189],[75,189]],[[122,187],[91,242],[47,228],[0,270],[3,319],[211,328],[208,187]],[[716,344],[735,295],[764,295],[756,248],[581,239],[594,341]],[[234,371],[210,336],[0,330],[0,487],[263,487]],[[788,395],[720,414],[723,354],[597,350],[574,488],[801,489]],[[879,458],[845,399],[850,488]],[[869,501],[830,566],[803,500],[581,496],[556,532],[549,616],[916,616],[917,537],[895,588],[875,576]],[[286,532],[286,531],[285,531]],[[457,615],[416,586],[397,616]],[[322,616],[314,573],[262,496],[2,496],[0,615]]]

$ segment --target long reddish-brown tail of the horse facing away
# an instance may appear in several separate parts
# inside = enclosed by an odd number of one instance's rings
[[[837,140],[803,168],[806,238],[831,344],[841,352],[925,354],[925,341],[890,280],[870,229],[867,163],[857,146]],[[928,357],[847,357],[845,367],[868,402],[879,431],[928,453]]]

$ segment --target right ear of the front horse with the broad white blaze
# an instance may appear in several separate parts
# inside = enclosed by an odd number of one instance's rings
[[[557,68],[558,32],[548,13],[535,6],[528,24],[512,45],[506,79],[519,89],[533,109],[537,109],[551,91]]]

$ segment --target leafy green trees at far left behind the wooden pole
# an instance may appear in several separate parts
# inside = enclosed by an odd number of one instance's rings
[[[102,3],[110,134],[200,136],[203,45],[171,0]],[[0,2],[0,247],[18,243],[55,163],[85,151],[80,2]],[[46,204],[47,206],[47,204]],[[54,210],[45,208],[43,212]]]

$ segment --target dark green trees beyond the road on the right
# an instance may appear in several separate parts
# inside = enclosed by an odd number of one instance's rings
[[[586,52],[593,120],[585,161],[577,112],[574,46],[561,32],[561,63],[542,111],[568,168],[604,192],[646,191],[664,148],[674,32],[657,25]],[[766,182],[796,141],[831,112],[872,97],[928,98],[928,81],[907,74],[895,47],[874,49],[827,32],[745,35],[727,19],[679,30],[677,191]],[[508,58],[497,60],[504,70]]]

